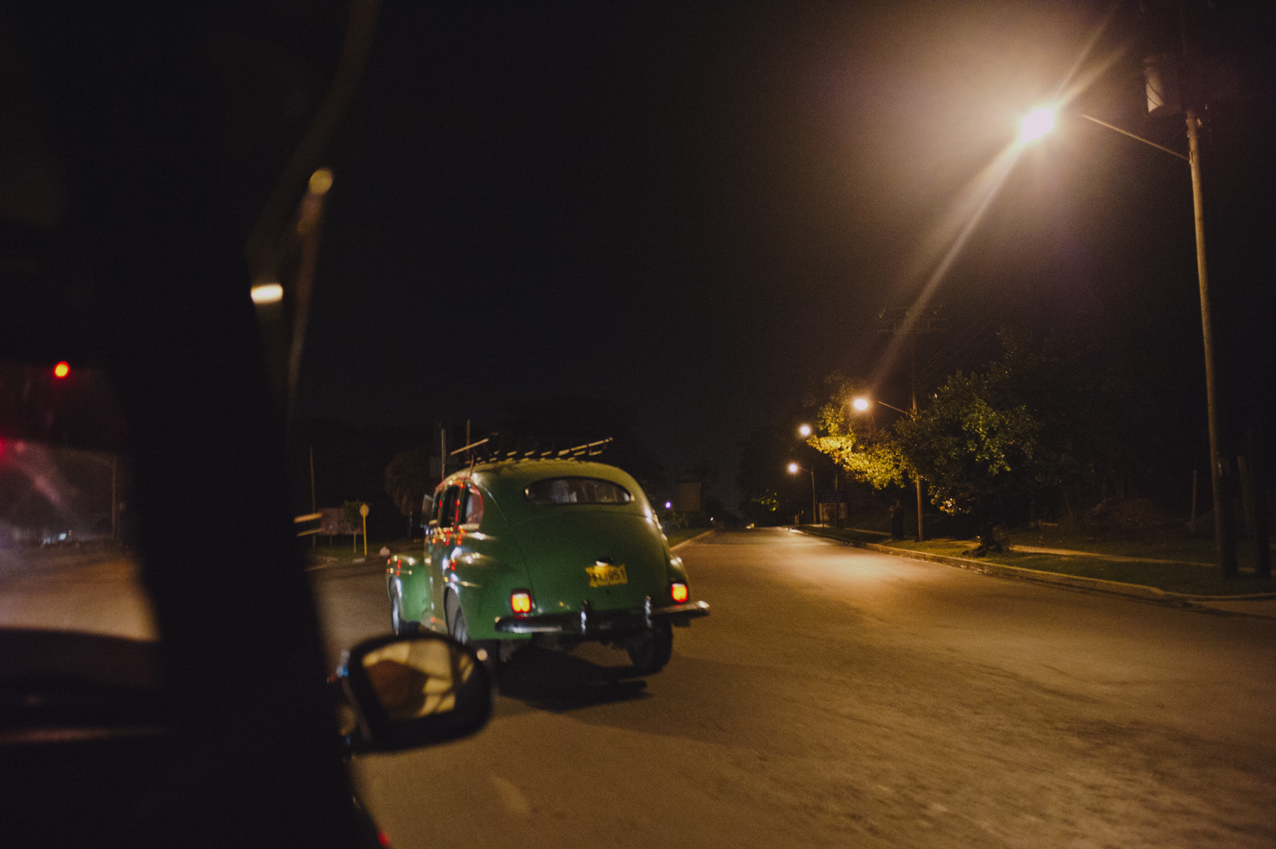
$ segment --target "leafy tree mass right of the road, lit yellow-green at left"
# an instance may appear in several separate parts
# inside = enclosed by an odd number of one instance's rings
[[[851,413],[860,388],[835,375],[810,445],[877,487],[920,474],[937,506],[975,516],[981,548],[995,547],[995,523],[1078,518],[1087,502],[1139,486],[1164,497],[1188,477],[1193,444],[1166,426],[1182,393],[1148,354],[1092,334],[999,337],[999,357],[889,430]]]

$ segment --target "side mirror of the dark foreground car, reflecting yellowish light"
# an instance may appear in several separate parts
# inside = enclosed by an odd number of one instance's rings
[[[491,681],[475,651],[440,634],[360,642],[337,671],[355,709],[352,744],[397,752],[475,733],[491,715]]]

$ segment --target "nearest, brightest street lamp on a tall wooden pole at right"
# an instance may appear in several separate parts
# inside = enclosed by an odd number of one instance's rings
[[[1023,119],[1020,126],[1020,136],[1023,142],[1040,138],[1041,135],[1045,135],[1045,133],[1049,133],[1054,126],[1053,115],[1049,125],[1046,125],[1042,119],[1037,117],[1032,126],[1045,126],[1045,129],[1035,135],[1030,135],[1030,120],[1034,120],[1034,116],[1040,112],[1042,112],[1042,110],[1036,110],[1035,112],[1030,112]],[[1197,282],[1201,289],[1201,337],[1205,343],[1206,418],[1210,423],[1210,482],[1213,491],[1215,557],[1219,562],[1219,572],[1222,577],[1235,577],[1236,541],[1231,534],[1231,504],[1228,500],[1229,487],[1226,486],[1225,479],[1229,469],[1222,447],[1224,433],[1221,412],[1219,409],[1220,402],[1213,353],[1213,319],[1211,317],[1210,310],[1210,278],[1206,273],[1205,261],[1205,201],[1201,194],[1201,148],[1197,143],[1197,129],[1201,126],[1201,120],[1197,117],[1196,110],[1191,106],[1187,107],[1184,112],[1188,122],[1188,156],[1183,156],[1178,150],[1171,150],[1170,148],[1150,142],[1139,135],[1134,135],[1133,133],[1123,130],[1119,126],[1113,126],[1106,121],[1100,121],[1096,117],[1091,117],[1088,115],[1079,115],[1079,117],[1108,127],[1109,130],[1115,130],[1122,135],[1128,135],[1129,138],[1142,142],[1143,144],[1150,144],[1157,150],[1164,150],[1165,153],[1175,156],[1180,159],[1187,159],[1192,172],[1192,212],[1193,218],[1196,219]]]

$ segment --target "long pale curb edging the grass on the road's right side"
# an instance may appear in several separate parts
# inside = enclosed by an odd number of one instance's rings
[[[911,551],[907,548],[896,548],[893,546],[880,546],[877,543],[863,542],[859,539],[847,539],[846,537],[837,535],[835,533],[818,528],[798,528],[798,530],[809,534],[812,537],[820,537],[823,539],[837,542],[843,546],[865,548],[868,551],[875,551],[883,555],[893,555],[896,557],[907,557],[910,560],[923,560],[933,563],[943,563],[946,566],[966,569],[974,572],[981,572],[984,575],[994,575],[997,577],[1009,577],[1014,580],[1034,581],[1037,584],[1050,584],[1054,586],[1067,588],[1071,590],[1105,593],[1109,595],[1122,595],[1125,598],[1137,599],[1146,603],[1164,604],[1166,607],[1182,607],[1188,609],[1212,611],[1216,613],[1222,613],[1229,616],[1257,616],[1261,618],[1276,618],[1276,593],[1259,593],[1254,595],[1196,595],[1191,593],[1173,593],[1156,586],[1146,586],[1142,584],[1125,584],[1122,581],[1109,581],[1100,577],[1085,577],[1079,575],[1065,575],[1062,572],[1049,572],[1036,569],[1023,569],[1022,566],[1008,566],[1004,563],[975,560],[971,557],[953,557],[951,555],[934,555],[929,552]],[[1048,553],[1062,555],[1064,552],[1050,551]],[[1077,552],[1077,553],[1081,556],[1100,557],[1100,558],[1118,557],[1116,555],[1095,555],[1092,552]],[[1067,555],[1071,556],[1072,552],[1068,551]],[[1160,561],[1138,561],[1138,558],[1122,558],[1122,560],[1136,561],[1136,562],[1160,562]],[[1169,561],[1169,562],[1173,563],[1184,561]]]

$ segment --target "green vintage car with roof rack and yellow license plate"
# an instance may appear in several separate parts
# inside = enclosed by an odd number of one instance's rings
[[[430,504],[421,556],[387,563],[397,632],[445,631],[508,659],[536,641],[624,648],[642,672],[661,669],[671,626],[707,616],[638,483],[577,460],[485,463],[444,479]]]

